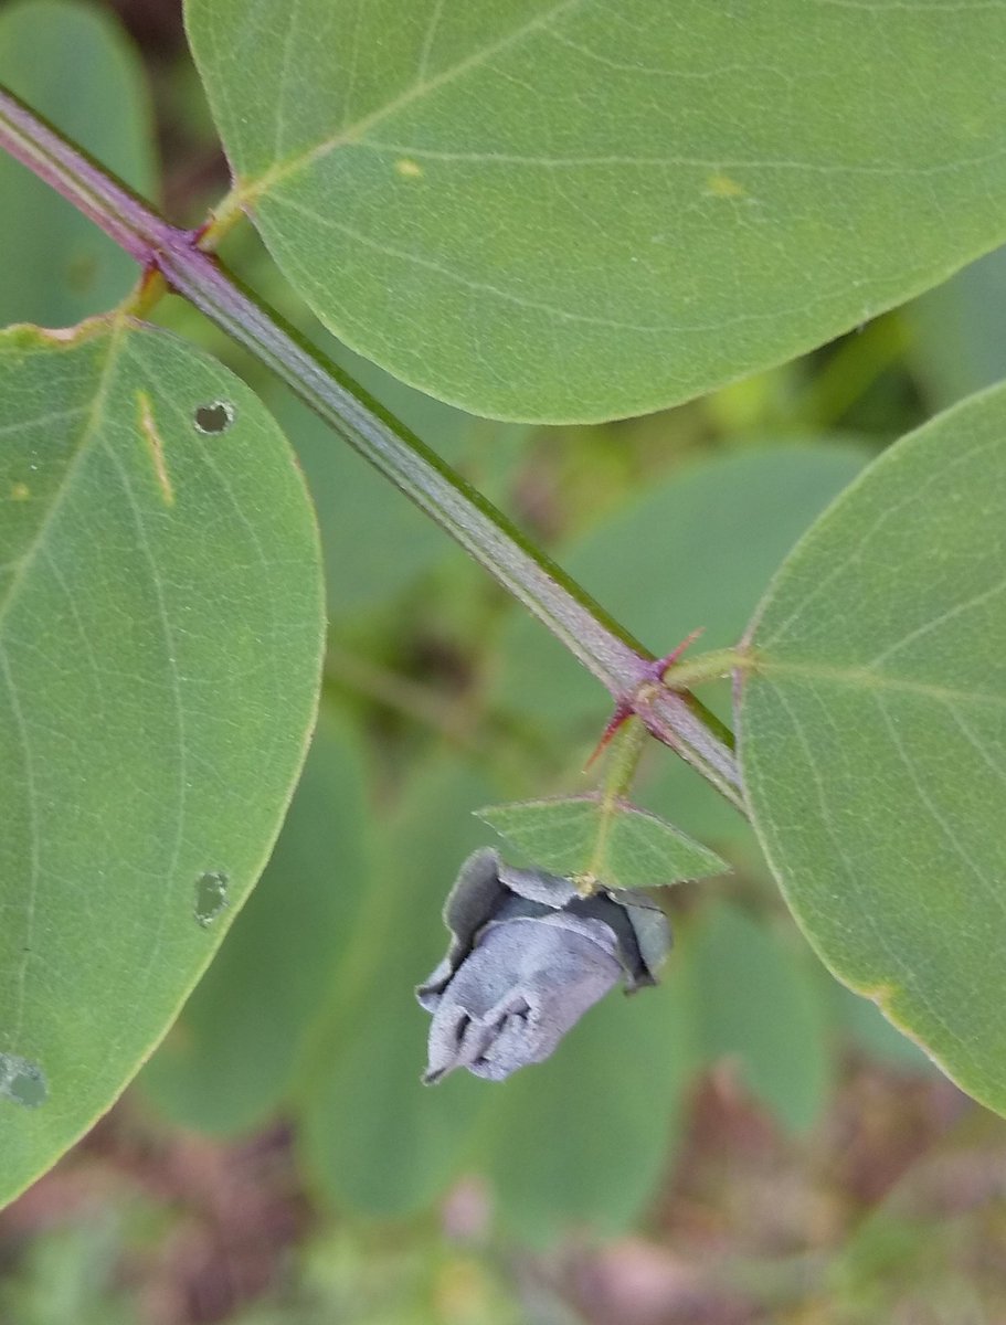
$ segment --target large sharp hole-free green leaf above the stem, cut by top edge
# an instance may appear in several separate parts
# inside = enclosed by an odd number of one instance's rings
[[[685,400],[1006,236],[998,5],[186,12],[289,280],[355,350],[476,413]]]

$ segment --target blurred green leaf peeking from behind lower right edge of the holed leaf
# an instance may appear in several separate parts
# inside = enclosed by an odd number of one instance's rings
[[[140,1076],[171,1121],[233,1136],[289,1094],[370,877],[364,788],[358,739],[322,714],[265,873]]]

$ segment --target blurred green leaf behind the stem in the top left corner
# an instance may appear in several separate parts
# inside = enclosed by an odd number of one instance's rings
[[[93,5],[25,0],[0,15],[0,83],[146,196],[154,132],[135,52]],[[137,264],[93,221],[0,154],[0,325],[72,326],[135,284]]]

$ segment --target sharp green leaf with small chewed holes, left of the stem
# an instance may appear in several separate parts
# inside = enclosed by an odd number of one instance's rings
[[[322,591],[281,433],[167,334],[8,333],[0,432],[9,1199],[150,1055],[265,864],[314,717]]]

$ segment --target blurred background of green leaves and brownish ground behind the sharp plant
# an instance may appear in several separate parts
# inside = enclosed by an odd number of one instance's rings
[[[0,81],[178,223],[227,188],[174,0],[0,4]],[[114,305],[131,264],[0,160],[0,319]],[[998,379],[1006,253],[805,359],[583,428],[469,417],[337,344],[251,228],[241,278],[510,511],[653,649],[733,643],[884,445]],[[787,917],[752,833],[671,754],[639,798],[726,856],[680,886],[659,990],[502,1085],[419,1084],[412,987],[492,800],[585,786],[606,697],[197,314],[307,474],[330,608],[322,716],[274,857],[127,1098],[0,1215],[0,1321],[999,1321],[1006,1124]],[[725,688],[709,702],[729,714]],[[1,1157],[0,1157],[1,1162]]]

